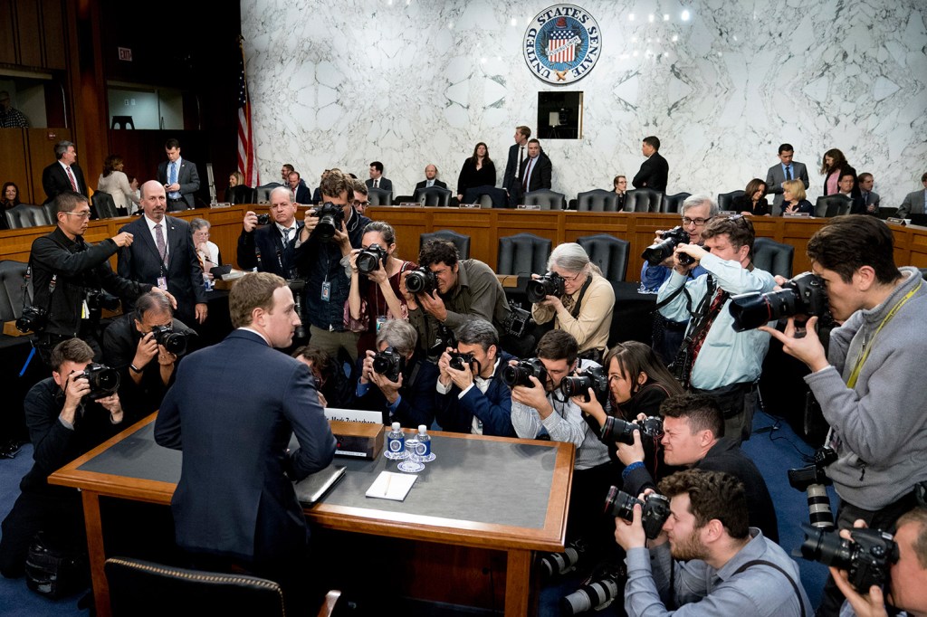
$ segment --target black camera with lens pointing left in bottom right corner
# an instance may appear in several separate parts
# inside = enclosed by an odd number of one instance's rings
[[[894,536],[878,529],[852,529],[852,540],[840,537],[837,530],[815,529],[807,523],[802,523],[802,529],[805,541],[801,556],[845,570],[850,585],[860,593],[869,593],[873,585],[883,586],[889,566],[898,560]]]

